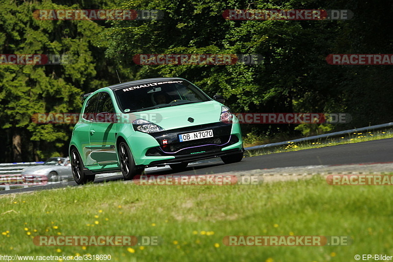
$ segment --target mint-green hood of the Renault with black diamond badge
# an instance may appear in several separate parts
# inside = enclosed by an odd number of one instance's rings
[[[207,101],[196,104],[175,105],[143,112],[132,113],[133,118],[142,118],[165,130],[197,126],[220,121],[221,104]],[[190,122],[188,119],[194,122]]]

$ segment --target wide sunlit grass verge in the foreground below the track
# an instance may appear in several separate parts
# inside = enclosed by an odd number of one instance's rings
[[[356,254],[393,254],[391,187],[332,186],[319,176],[252,186],[143,186],[119,181],[0,199],[2,255],[110,254],[112,261],[347,262],[354,261]],[[202,235],[203,231],[208,233]],[[140,250],[138,246],[84,249],[32,242],[33,236],[58,234],[161,236],[163,243]],[[232,247],[222,242],[224,236],[290,234],[352,236],[354,243]]]

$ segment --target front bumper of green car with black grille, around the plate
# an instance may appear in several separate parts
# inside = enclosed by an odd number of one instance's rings
[[[205,130],[213,130],[214,136],[179,141],[179,134]],[[217,122],[156,133],[136,132],[128,140],[136,165],[145,167],[192,162],[243,152],[238,122]]]

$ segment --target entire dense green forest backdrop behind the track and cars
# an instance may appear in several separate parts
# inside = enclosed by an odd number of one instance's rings
[[[31,122],[78,112],[81,93],[124,80],[182,77],[234,112],[345,112],[349,124],[243,125],[273,137],[392,122],[389,65],[329,65],[331,53],[393,53],[390,0],[0,0],[1,53],[70,54],[69,65],[0,66],[0,162],[66,155],[72,126]],[[229,21],[225,9],[350,9],[347,21]],[[158,9],[162,20],[39,21],[35,9]],[[146,53],[261,54],[258,65],[136,65]],[[18,142],[19,141],[19,142]]]

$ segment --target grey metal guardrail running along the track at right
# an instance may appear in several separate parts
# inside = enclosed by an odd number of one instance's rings
[[[284,142],[277,142],[277,143],[270,143],[270,144],[260,145],[260,146],[246,147],[245,150],[254,150],[254,149],[261,149],[261,148],[265,148],[265,147],[283,146],[283,145],[288,144],[289,142],[296,143],[296,142],[302,142],[302,141],[308,141],[308,140],[315,140],[315,139],[324,138],[324,137],[327,138],[330,136],[337,136],[337,135],[347,134],[347,133],[352,133],[352,132],[375,130],[375,129],[388,128],[388,127],[393,127],[393,122],[387,123],[387,124],[369,126],[369,127],[365,127],[365,128],[355,128],[355,129],[349,129],[349,130],[338,131],[338,132],[333,132],[333,133],[313,135],[313,136],[293,139],[293,140],[284,141]]]

